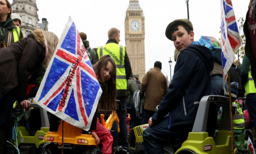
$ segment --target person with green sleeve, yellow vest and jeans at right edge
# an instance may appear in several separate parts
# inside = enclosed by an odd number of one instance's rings
[[[246,106],[250,117],[250,122],[256,129],[256,89],[254,80],[251,76],[251,66],[246,55],[243,57],[242,63],[242,84],[245,86]]]

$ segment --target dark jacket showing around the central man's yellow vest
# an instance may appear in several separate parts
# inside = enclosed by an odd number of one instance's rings
[[[108,43],[117,44],[117,41],[114,39],[109,39],[106,44]],[[94,63],[96,63],[98,60],[99,60],[99,57],[98,57],[98,54],[96,54]],[[124,68],[125,68],[126,80],[128,80],[132,73],[132,67],[131,67],[130,59],[128,57],[126,50],[125,50],[125,56],[124,56]],[[123,89],[117,90],[117,97],[120,97],[120,96],[127,96],[127,90],[123,90]]]

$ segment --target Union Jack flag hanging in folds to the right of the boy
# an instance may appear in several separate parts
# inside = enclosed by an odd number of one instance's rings
[[[224,85],[227,72],[235,59],[234,53],[240,47],[240,36],[231,0],[221,0],[221,47]]]

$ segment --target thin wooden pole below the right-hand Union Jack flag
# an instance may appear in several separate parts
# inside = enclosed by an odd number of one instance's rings
[[[231,98],[231,87],[230,87],[230,73],[228,75],[228,91],[229,91],[229,110],[230,110],[230,122],[231,122],[231,154],[234,154],[234,130],[233,130],[233,114],[232,114],[232,98]]]

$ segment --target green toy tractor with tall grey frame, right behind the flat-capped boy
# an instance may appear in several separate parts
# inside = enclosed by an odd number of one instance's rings
[[[212,103],[221,103],[223,111],[219,131],[216,132],[214,137],[209,137],[206,132],[206,124],[208,124],[209,107]],[[229,98],[217,95],[204,96],[199,104],[193,130],[175,154],[231,154],[230,130]],[[234,154],[236,153],[237,149],[234,148]]]

